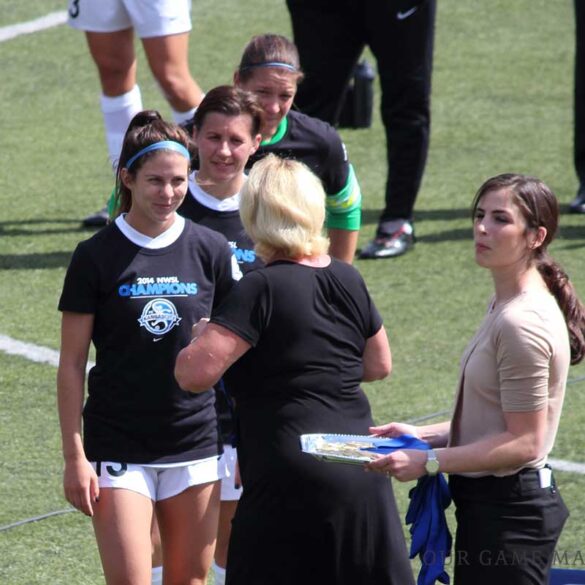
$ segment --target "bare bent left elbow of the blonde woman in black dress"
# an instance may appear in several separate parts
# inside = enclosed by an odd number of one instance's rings
[[[249,349],[250,344],[229,329],[210,323],[179,352],[175,378],[183,390],[209,390],[224,372]]]

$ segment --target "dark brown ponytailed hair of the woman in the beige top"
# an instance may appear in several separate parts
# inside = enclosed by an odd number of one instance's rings
[[[473,217],[481,198],[490,191],[507,189],[526,221],[527,229],[546,228],[542,244],[533,250],[532,261],[565,317],[571,345],[571,363],[585,357],[585,307],[579,300],[566,272],[548,255],[547,247],[556,236],[559,204],[551,189],[540,179],[506,173],[488,179],[478,190],[472,204]]]

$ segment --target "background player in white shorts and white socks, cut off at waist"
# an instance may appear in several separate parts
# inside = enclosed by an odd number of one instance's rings
[[[176,123],[193,116],[203,94],[189,71],[191,0],[69,0],[69,25],[85,32],[102,88],[101,110],[112,166],[124,134],[140,112],[134,34],[142,41],[154,78],[169,102]],[[105,225],[107,210],[84,220]]]

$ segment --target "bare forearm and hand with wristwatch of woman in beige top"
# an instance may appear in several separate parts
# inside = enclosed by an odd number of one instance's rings
[[[542,455],[546,436],[547,409],[505,412],[506,430],[460,447],[437,449],[439,469],[445,473],[496,471],[522,467]],[[416,479],[425,473],[424,451],[396,451],[368,467],[384,471],[400,481]]]

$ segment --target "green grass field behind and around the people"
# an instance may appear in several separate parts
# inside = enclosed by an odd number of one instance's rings
[[[284,0],[195,0],[191,65],[203,88],[228,83],[251,35],[290,34]],[[0,27],[65,8],[0,0]],[[381,310],[394,372],[366,387],[376,420],[449,410],[458,360],[491,293],[473,261],[469,204],[487,177],[537,175],[566,204],[572,167],[570,0],[440,0],[431,150],[414,252],[357,261]],[[58,349],[65,269],[90,233],[80,220],[111,189],[99,85],[83,35],[66,26],[0,43],[0,335]],[[139,50],[145,106],[168,115]],[[376,94],[379,100],[379,91]],[[385,182],[383,129],[341,134],[364,192],[363,245]],[[585,297],[585,217],[562,216],[551,248]],[[67,508],[52,366],[0,353],[0,526]],[[553,456],[585,462],[585,366],[571,369]],[[438,418],[437,418],[438,419]],[[585,476],[557,473],[571,510],[559,560],[583,567]],[[403,511],[409,486],[397,485]],[[102,583],[90,522],[67,513],[0,532],[0,583]]]

